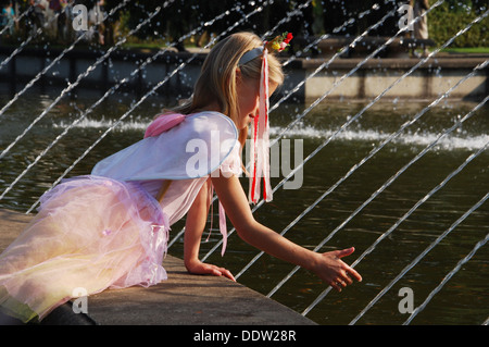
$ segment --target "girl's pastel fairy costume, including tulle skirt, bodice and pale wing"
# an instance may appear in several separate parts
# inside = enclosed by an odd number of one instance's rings
[[[38,214],[0,255],[0,309],[27,322],[79,288],[90,295],[165,280],[170,226],[211,174],[241,173],[239,149],[229,117],[190,114],[46,193]],[[160,205],[154,197],[166,179]]]

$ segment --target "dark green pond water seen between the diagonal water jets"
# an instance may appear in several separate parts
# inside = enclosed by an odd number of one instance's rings
[[[53,92],[53,95],[55,97],[59,94]],[[3,151],[14,141],[24,128],[54,100],[54,97],[33,94],[24,101],[14,103],[4,115],[0,116],[0,150]],[[1,191],[7,189],[66,126],[98,98],[97,95],[83,98],[76,96],[62,100],[24,138],[18,140],[0,160]],[[7,97],[2,97],[0,103],[4,104],[8,100]],[[0,200],[0,208],[18,211],[29,209],[52,182],[129,109],[130,101],[130,96],[115,96],[88,114],[15,184],[12,190]],[[67,177],[89,173],[100,159],[139,140],[151,119],[168,106],[171,103],[166,100],[158,98],[147,100],[86,154],[67,174]],[[371,150],[426,106],[421,102],[397,100],[379,102],[338,134],[336,134],[337,129],[360,112],[364,104],[326,102],[318,106],[297,127],[290,129],[286,138],[303,139],[303,158],[335,134],[334,138],[305,163],[301,189],[278,189],[274,201],[261,207],[255,212],[255,218],[275,231],[281,232]],[[310,249],[316,247],[398,170],[435,140],[440,132],[450,127],[474,107],[474,103],[449,101],[428,111],[418,122],[408,127],[328,194],[286,236]],[[302,111],[303,107],[298,104],[285,104],[274,111],[271,114],[272,135],[279,134]],[[462,164],[472,152],[486,145],[489,139],[487,111],[488,108],[485,108],[475,113],[461,127],[412,164],[351,221],[340,227],[322,250],[354,246],[355,253],[346,259],[347,262],[352,263],[419,199]],[[487,151],[473,160],[358,264],[356,269],[364,277],[361,284],[350,286],[341,294],[330,293],[308,317],[319,324],[348,324],[406,264],[489,190],[488,162]],[[274,178],[273,185],[281,178]],[[247,188],[247,179],[243,178],[242,183]],[[414,305],[421,305],[457,261],[489,232],[487,221],[486,203],[408,272],[366,312],[359,324],[404,322],[408,317],[400,313],[398,309],[401,300],[400,288],[412,288]],[[176,235],[181,226],[183,222],[174,225],[173,235]],[[217,232],[212,233],[209,243],[202,245],[203,255],[218,241],[218,235]],[[171,253],[181,257],[181,240],[172,246]],[[220,252],[215,252],[208,261],[227,267],[236,274],[255,253],[256,250],[242,243],[236,235],[231,235],[225,257],[222,258]],[[413,320],[413,324],[482,323],[488,317],[487,307],[489,306],[488,264],[487,247],[481,248]],[[288,263],[263,256],[240,276],[239,282],[266,295],[292,268]],[[314,275],[301,270],[272,298],[302,312],[324,288]]]

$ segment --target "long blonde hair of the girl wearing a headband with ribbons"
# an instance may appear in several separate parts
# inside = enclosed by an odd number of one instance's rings
[[[238,96],[236,88],[236,71],[239,59],[246,52],[263,47],[259,36],[252,33],[236,33],[220,41],[205,59],[201,74],[196,83],[193,95],[184,104],[173,109],[174,112],[190,114],[216,102],[220,111],[238,124]],[[262,60],[252,59],[239,66],[241,75],[246,78],[260,80]],[[280,62],[268,53],[268,79],[271,83],[281,85],[284,73]],[[240,131],[239,141],[244,146],[248,127]]]

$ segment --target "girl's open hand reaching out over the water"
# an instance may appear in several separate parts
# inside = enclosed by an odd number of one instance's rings
[[[319,260],[315,268],[315,273],[321,280],[338,292],[341,292],[347,285],[352,284],[352,277],[361,282],[362,276],[353,268],[341,260],[341,258],[353,253],[354,250],[355,249],[351,247],[343,250],[334,250],[318,255]]]

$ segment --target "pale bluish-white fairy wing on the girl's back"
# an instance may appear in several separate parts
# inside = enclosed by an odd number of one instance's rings
[[[238,131],[228,116],[200,112],[103,159],[91,174],[118,181],[203,177],[218,169],[237,145]]]

